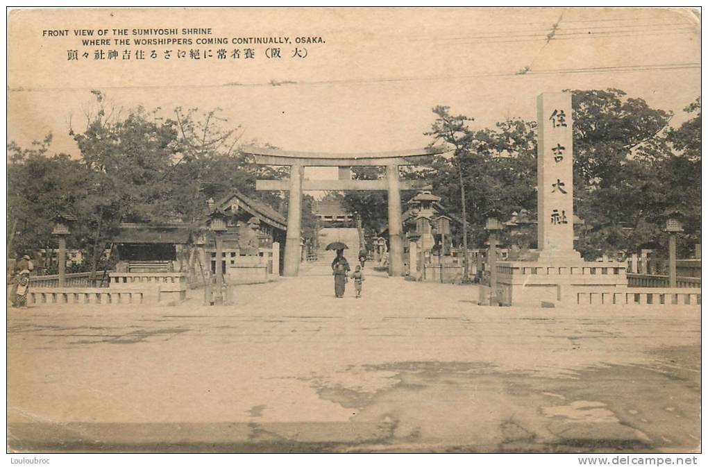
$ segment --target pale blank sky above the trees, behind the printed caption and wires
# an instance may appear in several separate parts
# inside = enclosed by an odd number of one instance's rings
[[[178,37],[321,36],[326,43],[305,45],[304,59],[290,58],[291,44],[279,60],[256,45],[252,60],[101,62],[94,49],[127,47],[82,47],[75,28],[212,28],[210,36]],[[42,37],[50,29],[71,35]],[[91,89],[119,107],[159,107],[166,117],[177,105],[219,107],[242,125],[244,142],[329,152],[426,146],[435,105],[486,127],[506,117],[535,119],[535,98],[544,91],[613,87],[673,110],[680,122],[681,110],[700,96],[700,23],[685,9],[14,11],[8,43],[8,140],[26,145],[52,132],[53,151],[74,156],[68,122],[83,128]],[[248,46],[130,46],[159,54],[221,47]],[[69,61],[71,49],[91,59]],[[515,74],[525,67],[527,74]]]

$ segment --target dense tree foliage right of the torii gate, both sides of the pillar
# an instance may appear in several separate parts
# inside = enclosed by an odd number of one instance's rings
[[[576,249],[589,260],[636,252],[644,245],[666,246],[662,232],[667,209],[685,215],[681,255],[700,243],[700,98],[673,117],[617,89],[572,91],[574,204],[585,224]],[[536,212],[536,122],[510,118],[493,128],[474,128],[474,119],[433,109],[431,144],[450,152],[436,156],[409,176],[423,176],[450,212],[468,222],[470,247],[483,246],[490,212],[502,220],[512,212]],[[464,201],[463,201],[464,200]],[[350,193],[346,203],[369,214],[372,227],[386,224],[385,194]],[[459,229],[462,230],[462,229]],[[463,243],[462,232],[455,238]],[[535,247],[535,239],[530,239]]]

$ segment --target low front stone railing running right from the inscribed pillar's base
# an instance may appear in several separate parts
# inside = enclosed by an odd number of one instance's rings
[[[573,292],[578,305],[653,305],[684,306],[700,305],[701,292],[695,289],[677,288],[628,288],[612,289],[576,289]]]

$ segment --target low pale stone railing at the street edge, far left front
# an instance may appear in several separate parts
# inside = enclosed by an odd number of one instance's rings
[[[27,294],[29,305],[40,304],[144,304],[144,290],[110,290],[99,287],[81,289],[32,289]]]

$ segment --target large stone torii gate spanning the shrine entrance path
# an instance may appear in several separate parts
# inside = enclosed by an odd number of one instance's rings
[[[401,238],[400,190],[421,188],[417,180],[400,180],[399,166],[414,166],[421,158],[442,154],[445,149],[428,148],[408,151],[362,154],[282,151],[249,146],[243,149],[263,166],[290,166],[289,180],[256,180],[256,190],[289,191],[287,236],[283,275],[297,276],[300,263],[300,225],[303,190],[387,190],[389,204],[389,275],[403,275],[403,239]],[[352,180],[353,166],[384,166],[385,180]],[[305,167],[338,167],[339,180],[304,180]]]

